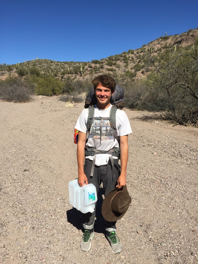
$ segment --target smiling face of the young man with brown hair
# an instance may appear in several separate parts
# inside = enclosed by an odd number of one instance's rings
[[[95,89],[96,99],[97,99],[97,107],[100,109],[106,109],[110,106],[110,99],[111,95],[111,89],[104,87],[100,84]]]

